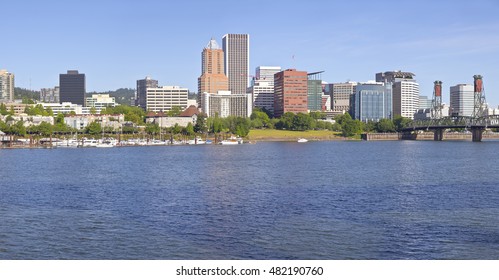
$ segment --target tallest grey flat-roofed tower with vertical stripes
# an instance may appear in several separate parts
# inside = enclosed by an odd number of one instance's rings
[[[232,94],[245,94],[249,74],[249,35],[226,34],[222,38],[225,75]]]

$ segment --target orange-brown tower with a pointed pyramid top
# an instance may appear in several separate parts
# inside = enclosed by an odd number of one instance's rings
[[[229,89],[229,79],[224,72],[224,52],[212,38],[201,53],[201,76],[198,78],[198,93],[217,93]]]

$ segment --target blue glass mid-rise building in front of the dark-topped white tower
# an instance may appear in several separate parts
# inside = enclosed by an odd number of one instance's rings
[[[392,119],[392,85],[367,82],[356,86],[352,117],[362,122]]]

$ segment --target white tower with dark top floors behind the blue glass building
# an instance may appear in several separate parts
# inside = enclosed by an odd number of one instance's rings
[[[419,84],[410,72],[391,71],[376,74],[376,82],[392,83],[393,116],[414,119],[419,108]]]

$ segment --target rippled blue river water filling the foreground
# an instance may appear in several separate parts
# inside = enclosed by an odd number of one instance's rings
[[[499,142],[0,150],[0,259],[499,259]]]

